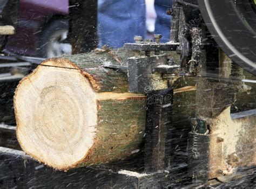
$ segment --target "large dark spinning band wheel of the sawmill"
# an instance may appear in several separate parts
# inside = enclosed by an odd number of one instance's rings
[[[256,75],[256,1],[198,0],[213,38],[239,66]]]

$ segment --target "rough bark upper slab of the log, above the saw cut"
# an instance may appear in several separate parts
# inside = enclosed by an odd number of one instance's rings
[[[58,66],[72,69],[80,69],[82,74],[91,81],[96,92],[128,92],[127,72],[106,69],[104,65],[126,65],[127,58],[132,57],[133,52],[118,48],[117,50],[94,51],[56,59],[54,65],[51,61],[44,61],[44,66]],[[53,59],[54,60],[54,59]]]

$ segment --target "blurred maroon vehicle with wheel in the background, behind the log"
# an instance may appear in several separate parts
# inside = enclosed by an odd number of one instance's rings
[[[5,49],[31,57],[55,57],[71,53],[63,43],[69,30],[68,0],[20,0],[19,19]]]

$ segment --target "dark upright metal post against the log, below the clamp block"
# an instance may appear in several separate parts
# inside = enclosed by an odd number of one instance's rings
[[[147,94],[145,131],[145,171],[153,173],[168,169],[171,149],[173,88],[154,90]]]

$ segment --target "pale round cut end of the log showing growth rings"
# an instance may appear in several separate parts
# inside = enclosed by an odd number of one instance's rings
[[[77,69],[41,66],[19,85],[15,108],[18,141],[41,162],[67,169],[94,144],[96,93]]]

